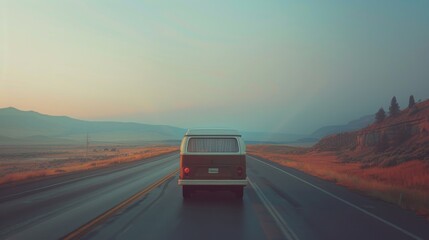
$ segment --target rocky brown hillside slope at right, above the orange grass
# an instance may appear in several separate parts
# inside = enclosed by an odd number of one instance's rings
[[[404,109],[396,117],[354,132],[321,139],[314,149],[339,151],[347,162],[392,166],[410,160],[429,162],[429,100]]]

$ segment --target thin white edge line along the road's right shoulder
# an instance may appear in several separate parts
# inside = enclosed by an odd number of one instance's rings
[[[249,156],[249,157],[250,157],[250,156]],[[254,158],[254,157],[250,157],[250,158],[252,158],[252,159],[254,159],[254,160],[256,160],[256,161],[258,161],[258,162],[260,162],[260,163],[262,163],[262,164],[265,164],[265,165],[267,165],[267,166],[270,166],[270,167],[272,167],[272,168],[274,168],[274,169],[277,169],[277,170],[279,170],[280,172],[283,172],[283,173],[285,173],[285,174],[287,174],[287,175],[289,175],[289,176],[291,176],[291,177],[293,177],[293,178],[297,179],[298,181],[301,181],[301,182],[303,182],[303,183],[305,183],[305,184],[307,184],[307,185],[309,185],[309,186],[311,186],[311,187],[313,187],[313,188],[315,188],[315,189],[317,189],[317,190],[319,190],[319,191],[321,191],[321,192],[325,193],[326,195],[329,195],[329,196],[331,196],[331,197],[333,197],[333,198],[337,199],[338,201],[343,202],[343,203],[347,204],[348,206],[350,206],[350,207],[352,207],[352,208],[354,208],[354,209],[356,209],[356,210],[358,210],[358,211],[360,211],[360,212],[362,212],[362,213],[365,213],[366,215],[368,215],[368,216],[370,216],[370,217],[373,217],[374,219],[377,219],[378,221],[380,221],[380,222],[382,222],[382,223],[384,223],[384,224],[386,224],[386,225],[388,225],[388,226],[390,226],[390,227],[392,227],[392,228],[395,228],[396,230],[398,230],[398,231],[402,232],[403,234],[405,234],[405,235],[407,235],[407,236],[409,236],[409,237],[411,237],[411,238],[413,238],[413,239],[416,239],[416,240],[423,240],[423,238],[421,238],[421,237],[419,237],[419,236],[416,236],[416,235],[414,235],[414,234],[412,234],[412,233],[408,232],[407,230],[405,230],[405,229],[403,229],[403,228],[401,228],[401,227],[399,227],[399,226],[397,226],[397,225],[395,225],[395,224],[393,224],[393,223],[391,223],[391,222],[389,222],[389,221],[387,221],[387,220],[385,220],[385,219],[383,219],[383,218],[381,218],[381,217],[379,217],[379,216],[377,216],[377,215],[375,215],[375,214],[373,214],[373,213],[370,213],[370,212],[368,212],[367,210],[365,210],[365,209],[363,209],[363,208],[360,208],[359,206],[357,206],[357,205],[355,205],[355,204],[353,204],[353,203],[351,203],[351,202],[349,202],[349,201],[347,201],[347,200],[344,200],[344,199],[342,199],[342,198],[340,198],[340,197],[338,197],[338,196],[336,196],[336,195],[334,195],[334,194],[332,194],[332,193],[330,193],[330,192],[328,192],[328,191],[326,191],[326,190],[324,190],[324,189],[322,189],[322,188],[320,188],[320,187],[318,187],[318,186],[316,186],[316,185],[314,185],[314,184],[312,184],[312,183],[310,183],[310,182],[308,182],[308,181],[306,181],[306,180],[304,180],[304,179],[302,179],[302,178],[300,178],[300,177],[297,177],[297,176],[296,176],[296,175],[294,175],[294,174],[288,173],[288,172],[286,172],[286,171],[285,171],[285,170],[283,170],[283,169],[280,169],[280,168],[278,168],[278,167],[276,167],[276,166],[273,166],[273,165],[271,165],[271,164],[265,163],[265,162],[263,162],[263,161],[261,161],[261,160],[258,160],[258,159],[256,159],[256,158]]]

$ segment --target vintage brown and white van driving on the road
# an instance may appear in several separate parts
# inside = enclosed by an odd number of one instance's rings
[[[197,190],[231,190],[243,198],[247,185],[246,145],[241,134],[225,129],[189,129],[180,145],[183,198]]]

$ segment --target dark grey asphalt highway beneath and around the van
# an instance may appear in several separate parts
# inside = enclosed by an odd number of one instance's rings
[[[297,170],[247,157],[243,200],[199,192],[177,174],[94,225],[83,239],[429,239],[429,222]],[[178,154],[0,188],[0,239],[58,239],[147,189]]]

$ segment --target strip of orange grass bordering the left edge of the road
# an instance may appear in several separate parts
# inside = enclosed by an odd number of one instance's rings
[[[150,146],[122,148],[120,149],[120,153],[116,154],[111,154],[110,152],[108,154],[103,152],[103,154],[94,154],[91,152],[87,158],[76,159],[70,157],[69,160],[62,160],[59,161],[59,163],[55,160],[15,160],[13,162],[0,163],[0,184],[107,167],[114,164],[143,160],[178,150],[179,148],[177,146]],[[84,152],[85,151],[80,151],[79,153],[83,154]],[[5,173],[6,169],[7,173]]]

